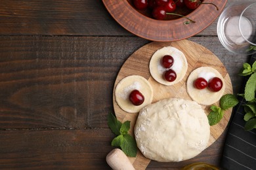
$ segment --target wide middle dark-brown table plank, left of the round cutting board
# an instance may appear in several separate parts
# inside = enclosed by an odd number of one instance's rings
[[[121,44],[116,38],[90,37],[0,39],[2,129],[106,127],[119,67],[146,42],[123,38]]]

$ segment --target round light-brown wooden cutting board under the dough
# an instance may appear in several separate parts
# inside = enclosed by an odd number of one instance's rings
[[[184,53],[188,61],[188,71],[186,72],[186,75],[184,76],[181,82],[174,84],[173,86],[162,85],[156,82],[156,80],[154,80],[154,78],[152,78],[152,76],[150,75],[150,71],[149,71],[150,58],[154,54],[154,52],[156,52],[156,50],[162,48],[163,46],[173,46],[175,48],[178,48]],[[154,97],[153,97],[152,103],[155,103],[156,101],[160,101],[161,99],[167,99],[171,97],[192,100],[188,96],[188,93],[186,92],[186,80],[188,78],[188,75],[194,69],[202,66],[208,66],[208,67],[213,67],[217,69],[217,71],[221,73],[225,81],[224,83],[226,86],[225,86],[224,94],[232,93],[232,84],[230,81],[230,77],[223,63],[221,63],[221,61],[219,60],[219,58],[217,58],[217,56],[215,56],[207,48],[201,46],[200,44],[197,44],[196,42],[192,42],[188,40],[175,41],[175,42],[151,42],[139,48],[139,50],[133,53],[121,67],[117,75],[116,82],[114,84],[114,92],[116,90],[116,85],[121,79],[129,75],[140,75],[146,78],[152,85],[152,88],[154,90]],[[114,111],[117,119],[121,122],[125,122],[126,120],[131,121],[130,133],[133,135],[133,127],[135,126],[138,113],[128,113],[122,110],[116,103],[114,93],[113,93],[113,103],[114,103]],[[219,102],[215,103],[214,105],[219,106]],[[202,105],[202,107],[205,110],[205,113],[209,114],[210,106]],[[221,122],[219,122],[219,124],[215,126],[211,126],[211,135],[210,135],[208,146],[213,144],[219,138],[219,136],[223,133],[230,119],[231,112],[232,112],[232,109],[226,110]],[[148,166],[148,163],[150,163],[150,160],[148,160],[148,158],[145,158],[140,151],[138,151],[137,157],[130,158],[130,161],[133,163],[133,166],[135,167],[135,169],[146,169],[146,167]]]

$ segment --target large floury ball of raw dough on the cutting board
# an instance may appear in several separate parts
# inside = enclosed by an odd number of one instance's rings
[[[183,161],[202,152],[210,127],[195,101],[164,99],[140,110],[135,139],[142,154],[156,161]]]

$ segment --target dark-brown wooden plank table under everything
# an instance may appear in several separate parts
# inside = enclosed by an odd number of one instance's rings
[[[189,40],[221,59],[238,93],[248,58],[225,50],[216,26]],[[0,169],[110,169],[114,81],[148,42],[117,24],[100,0],[1,0]],[[192,160],[151,161],[147,169],[219,165],[225,134]]]

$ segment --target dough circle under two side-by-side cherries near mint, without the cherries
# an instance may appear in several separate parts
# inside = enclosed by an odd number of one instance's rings
[[[205,88],[203,90],[198,90],[197,88],[194,88],[194,80],[196,80],[196,78],[200,77],[201,75],[209,74],[215,75],[221,78],[221,80],[223,81],[223,88],[221,88],[219,92],[211,92],[211,90],[209,90],[208,88]],[[213,76],[208,76],[207,78],[205,78],[205,80],[208,81],[210,78],[213,78]],[[201,105],[212,105],[213,103],[216,103],[223,96],[224,90],[224,78],[219,73],[219,71],[213,69],[213,67],[199,67],[198,69],[195,69],[190,73],[190,75],[188,76],[188,80],[186,81],[186,92],[194,101],[198,102]]]

